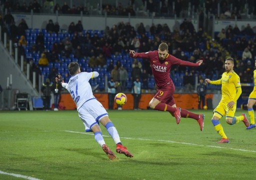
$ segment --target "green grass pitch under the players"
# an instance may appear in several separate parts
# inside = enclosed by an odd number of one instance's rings
[[[212,110],[192,111],[205,114],[203,131],[190,118],[176,124],[168,112],[109,110],[123,145],[134,155],[116,153],[117,160],[108,159],[91,132],[84,133],[75,110],[0,111],[0,171],[44,180],[255,179],[256,128],[228,125],[222,118],[230,143],[217,144]],[[20,178],[0,173],[0,179]]]

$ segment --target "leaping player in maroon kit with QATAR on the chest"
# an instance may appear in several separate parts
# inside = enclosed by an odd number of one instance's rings
[[[186,109],[176,107],[175,100],[173,98],[175,86],[169,75],[171,65],[199,66],[202,63],[202,60],[192,63],[178,59],[168,53],[168,45],[165,42],[160,43],[158,50],[141,53],[129,50],[129,53],[133,58],[141,57],[150,60],[152,73],[157,85],[156,94],[149,102],[150,108],[170,112],[172,116],[175,116],[177,124],[181,117],[193,118],[197,120],[200,130],[202,130],[204,119],[203,114],[195,114]]]

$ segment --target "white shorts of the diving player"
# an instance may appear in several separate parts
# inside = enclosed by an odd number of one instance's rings
[[[108,116],[108,113],[97,99],[91,99],[82,104],[78,109],[78,115],[85,126],[85,131],[88,132],[93,125],[99,124],[102,117]]]

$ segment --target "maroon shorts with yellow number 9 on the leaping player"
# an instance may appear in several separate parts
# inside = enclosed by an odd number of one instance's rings
[[[154,98],[158,99],[159,101],[166,103],[170,106],[175,104],[175,100],[173,98],[173,93],[175,91],[174,85],[168,85],[161,89],[156,89],[156,94]]]

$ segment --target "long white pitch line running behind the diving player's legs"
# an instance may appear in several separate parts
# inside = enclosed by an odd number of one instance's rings
[[[63,130],[64,132],[72,132],[72,133],[82,133],[82,134],[89,134],[93,135],[93,133],[88,133],[88,132],[76,132],[76,131],[71,131],[71,130]],[[110,137],[109,135],[102,135],[104,137]],[[173,140],[157,140],[157,139],[144,139],[144,138],[132,138],[132,137],[120,137],[120,138],[125,138],[125,139],[136,139],[136,140],[155,140],[155,141],[161,141],[161,142],[171,142],[171,143],[179,143],[179,144],[187,144],[187,145],[196,145],[196,146],[206,146],[206,147],[214,147],[214,148],[224,148],[224,149],[232,149],[232,150],[240,150],[240,151],[246,151],[246,152],[256,152],[256,150],[246,150],[246,149],[238,149],[238,148],[228,148],[228,147],[220,147],[220,146],[215,146],[215,145],[202,145],[202,144],[195,144],[195,143],[189,143],[189,142],[177,142]]]

